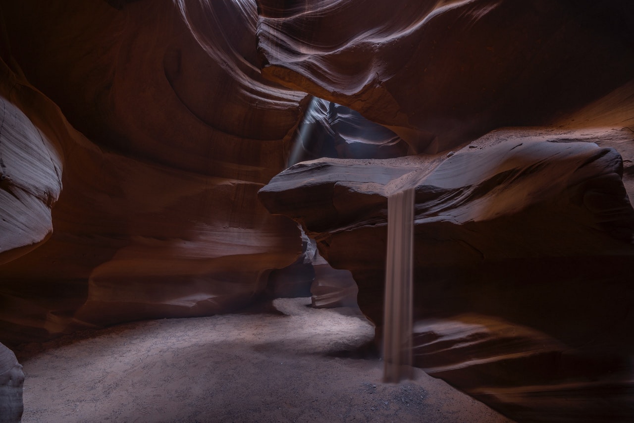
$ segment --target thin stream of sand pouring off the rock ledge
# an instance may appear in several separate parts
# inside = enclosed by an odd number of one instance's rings
[[[414,188],[392,193],[387,200],[387,264],[383,360],[384,381],[412,375],[412,274]]]

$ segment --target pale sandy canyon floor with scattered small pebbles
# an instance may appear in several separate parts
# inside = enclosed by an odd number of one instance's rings
[[[413,381],[382,383],[382,361],[346,353],[372,339],[372,326],[350,309],[309,303],[276,299],[273,312],[129,323],[23,346],[22,421],[512,421],[418,369]]]

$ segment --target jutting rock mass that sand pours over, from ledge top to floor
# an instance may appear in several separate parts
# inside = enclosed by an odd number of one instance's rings
[[[627,421],[634,210],[621,157],[566,142],[570,134],[513,134],[495,131],[442,156],[302,162],[259,195],[302,223],[334,268],[353,273],[380,335],[387,195],[415,182],[415,365],[518,420]],[[441,335],[469,322],[464,313],[503,324]]]

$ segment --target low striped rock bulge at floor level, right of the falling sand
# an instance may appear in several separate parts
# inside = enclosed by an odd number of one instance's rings
[[[421,320],[414,334],[418,367],[460,380],[474,398],[519,422],[626,422],[634,415],[634,382],[623,356],[597,358],[477,314]]]

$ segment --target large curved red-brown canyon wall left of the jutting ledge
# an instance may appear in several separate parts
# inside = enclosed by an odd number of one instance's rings
[[[254,2],[2,11],[3,342],[235,310],[294,263],[257,190],[306,94],[262,79]]]

